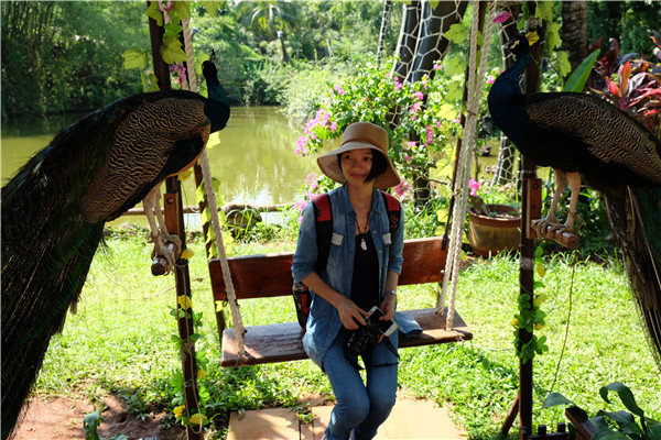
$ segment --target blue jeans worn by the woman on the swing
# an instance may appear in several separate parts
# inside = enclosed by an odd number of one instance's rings
[[[356,369],[356,356],[350,358],[351,361],[345,358],[349,334],[343,328],[324,356],[324,371],[337,400],[325,432],[328,440],[346,440],[351,431],[356,440],[372,439],[390,415],[397,397],[398,359],[394,354],[381,342],[362,356],[366,385]],[[397,336],[390,339],[397,348]]]

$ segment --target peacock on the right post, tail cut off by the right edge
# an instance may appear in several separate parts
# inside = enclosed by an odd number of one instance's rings
[[[582,179],[604,196],[631,290],[661,369],[661,141],[636,119],[598,97],[577,92],[521,94],[530,61],[525,36],[508,42],[516,63],[494,82],[491,118],[538,166],[552,167],[555,193],[538,232],[573,231]],[[555,217],[571,190],[564,224]]]

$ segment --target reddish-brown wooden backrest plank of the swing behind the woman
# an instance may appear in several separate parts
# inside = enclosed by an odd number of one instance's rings
[[[404,264],[400,285],[443,280],[447,251],[443,238],[404,241]],[[239,299],[286,296],[292,294],[293,252],[234,256],[227,258],[235,293]],[[209,276],[215,300],[227,300],[220,261],[209,261]]]

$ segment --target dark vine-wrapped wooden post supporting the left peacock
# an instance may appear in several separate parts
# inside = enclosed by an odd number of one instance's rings
[[[159,88],[161,90],[170,89],[170,69],[167,64],[163,62],[163,58],[160,54],[163,29],[159,26],[152,18],[150,18],[149,30],[154,74],[159,82]],[[176,177],[169,177],[165,182],[165,224],[170,233],[176,233],[178,235],[182,242],[183,251],[186,249],[186,232],[184,230],[184,213],[180,182]],[[178,258],[173,270],[176,283],[177,310],[181,310],[182,308],[178,301],[181,296],[185,296],[187,298],[186,302],[191,304],[191,276],[188,273],[188,261],[185,258]],[[194,409],[198,409],[197,403],[199,402],[197,395],[197,362],[195,359],[195,344],[189,340],[189,337],[195,332],[193,327],[193,308],[191,307],[188,309],[184,309],[184,316],[177,318],[177,328],[181,338],[180,346],[182,358],[182,374],[184,380],[184,399],[187,413],[192,414]],[[186,438],[188,440],[202,440],[204,438],[203,427],[201,425],[193,427],[193,425],[188,424],[186,426]]]

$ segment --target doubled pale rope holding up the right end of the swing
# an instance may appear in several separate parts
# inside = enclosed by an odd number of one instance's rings
[[[470,154],[475,148],[475,133],[477,131],[477,117],[479,109],[479,98],[481,95],[481,85],[487,70],[487,56],[489,53],[489,41],[491,38],[491,31],[494,26],[494,16],[496,13],[496,2],[491,3],[489,10],[489,18],[487,20],[487,28],[485,31],[483,52],[479,64],[479,72],[476,72],[476,59],[477,59],[477,33],[479,22],[479,2],[473,2],[473,25],[470,26],[470,59],[468,69],[468,102],[466,110],[466,124],[464,130],[464,142],[462,143],[462,150],[459,154],[459,161],[457,162],[458,173],[455,180],[455,188],[453,189],[455,195],[458,194],[458,202],[455,204],[453,210],[452,230],[449,234],[449,249],[447,252],[447,261],[445,263],[445,276],[443,277],[443,289],[441,293],[441,299],[444,304],[445,297],[447,296],[447,288],[449,279],[452,285],[449,286],[449,301],[447,306],[447,316],[445,330],[451,331],[454,324],[455,314],[455,300],[457,294],[457,280],[459,271],[459,258],[462,250],[462,237],[464,230],[464,221],[459,219],[466,218],[466,208],[468,202],[468,180],[470,178]],[[477,78],[476,78],[477,75]],[[447,276],[449,274],[449,277]],[[442,309],[443,310],[443,309]]]

